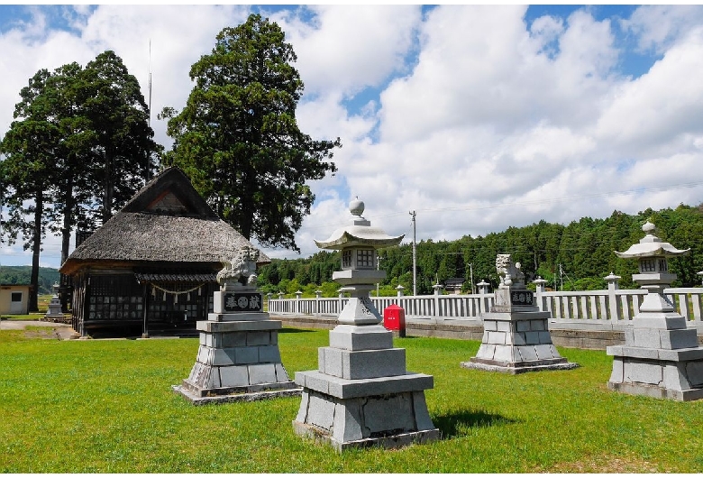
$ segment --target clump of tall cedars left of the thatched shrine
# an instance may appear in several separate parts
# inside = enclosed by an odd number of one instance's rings
[[[61,262],[78,225],[104,223],[132,197],[162,150],[153,142],[139,84],[113,51],[81,69],[41,69],[20,92],[16,121],[0,142],[3,232],[32,249],[30,310],[37,309],[41,241],[62,235]]]

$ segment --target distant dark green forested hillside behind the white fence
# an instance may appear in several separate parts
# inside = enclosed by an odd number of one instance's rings
[[[417,293],[433,293],[434,283],[453,278],[465,279],[462,292],[470,293],[471,271],[474,284],[485,280],[492,290],[498,286],[498,253],[511,253],[513,260],[521,263],[528,282],[540,276],[549,281],[547,287],[552,290],[606,289],[603,278],[610,272],[622,278],[621,289],[636,289],[632,281],[636,261],[619,259],[614,251],[623,252],[639,242],[647,220],[656,225],[662,241],[691,250],[687,256],[671,259],[670,270],[678,275],[673,285],[699,285],[697,272],[703,271],[703,205],[680,205],[660,211],[646,209],[635,216],[615,211],[606,219],[583,217],[569,225],[540,221],[486,236],[421,241],[416,244]],[[379,295],[395,296],[397,285],[405,288],[406,295],[412,294],[412,244],[381,250],[379,257],[380,269],[387,271]],[[260,268],[259,285],[265,292],[282,291],[288,297],[297,290],[304,297],[314,297],[315,290],[322,290],[324,297],[334,297],[340,286],[332,281],[332,273],[339,268],[337,252],[320,251],[306,259],[274,259]]]

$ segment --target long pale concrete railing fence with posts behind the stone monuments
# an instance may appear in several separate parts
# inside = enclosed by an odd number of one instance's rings
[[[550,328],[591,330],[620,330],[639,312],[646,290],[619,290],[614,275],[607,276],[607,290],[546,291],[546,280],[535,280],[537,286],[534,300],[540,310],[552,312]],[[488,312],[493,304],[493,293],[488,284],[479,284],[478,294],[442,295],[435,287],[434,295],[371,298],[374,306],[383,315],[383,310],[396,304],[405,310],[406,324],[482,325],[480,314]],[[671,288],[664,290],[666,297],[676,310],[686,317],[689,327],[698,328],[703,334],[701,321],[701,288]],[[319,317],[329,320],[336,317],[348,299],[322,298],[318,292],[315,299],[283,299],[279,294],[274,299],[269,294],[269,313],[274,317]]]

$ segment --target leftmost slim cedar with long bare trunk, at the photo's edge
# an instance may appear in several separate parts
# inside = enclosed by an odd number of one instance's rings
[[[14,107],[15,121],[0,142],[0,153],[5,155],[0,162],[6,207],[3,233],[8,234],[9,244],[22,234],[24,249],[32,250],[30,312],[38,310],[39,258],[51,212],[51,175],[59,139],[50,101],[44,95],[50,76],[41,69],[22,88],[22,101]]]

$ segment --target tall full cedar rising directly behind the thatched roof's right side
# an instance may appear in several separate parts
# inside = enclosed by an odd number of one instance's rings
[[[336,141],[301,133],[303,82],[285,33],[258,14],[225,28],[190,69],[196,82],[178,115],[164,108],[173,151],[165,162],[187,172],[217,214],[244,237],[299,251],[294,234],[315,195],[306,181],[336,172]]]

